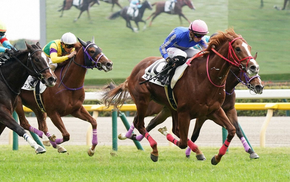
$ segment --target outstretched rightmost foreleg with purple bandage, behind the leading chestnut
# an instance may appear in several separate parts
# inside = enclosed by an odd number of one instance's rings
[[[228,110],[226,112],[226,115],[229,118],[230,122],[233,124],[233,126],[236,128],[236,135],[241,140],[245,151],[250,154],[250,158],[251,159],[260,158],[258,156],[258,154],[256,154],[254,152],[254,150],[251,149],[250,145],[247,143],[247,140],[245,139],[245,137],[242,133],[242,130],[241,130],[239,123],[238,123],[238,115],[237,115],[236,109],[233,108],[233,109]]]

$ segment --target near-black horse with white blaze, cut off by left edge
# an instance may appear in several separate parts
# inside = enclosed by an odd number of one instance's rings
[[[5,127],[10,128],[23,137],[38,154],[46,150],[27,135],[12,117],[12,113],[17,105],[17,95],[29,75],[35,76],[48,87],[55,85],[56,76],[49,67],[48,57],[41,50],[39,42],[36,45],[26,43],[26,47],[25,50],[15,52],[0,68],[0,134]]]

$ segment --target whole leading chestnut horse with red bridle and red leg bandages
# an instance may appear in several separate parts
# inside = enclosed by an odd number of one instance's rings
[[[177,110],[171,108],[163,87],[151,82],[138,85],[144,81],[142,76],[145,69],[160,57],[145,58],[134,67],[124,83],[104,94],[103,99],[106,105],[121,107],[128,96],[125,93],[129,91],[137,107],[134,127],[149,141],[153,149],[150,157],[154,162],[158,160],[157,143],[144,126],[144,117],[151,100],[170,108],[173,118],[172,131],[180,140],[174,139],[171,134],[167,134],[166,137],[181,149],[189,146],[198,155],[203,156],[197,145],[187,137],[190,120],[194,118],[206,116],[228,130],[227,140],[219,154],[211,160],[213,165],[220,162],[235,135],[234,126],[221,108],[225,98],[224,89],[227,75],[233,65],[246,71],[251,77],[258,73],[259,65],[251,56],[251,47],[233,29],[228,29],[226,33],[219,32],[218,35],[212,37],[205,51],[205,54],[193,59],[193,64],[184,71],[183,76],[173,88]],[[190,65],[188,61],[187,63]]]

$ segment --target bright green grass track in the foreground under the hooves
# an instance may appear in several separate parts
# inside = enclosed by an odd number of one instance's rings
[[[185,158],[177,147],[159,147],[159,160],[152,162],[151,148],[145,151],[134,146],[97,146],[93,157],[88,146],[66,146],[68,153],[58,154],[52,147],[36,155],[34,149],[20,145],[18,151],[2,145],[0,150],[0,181],[290,181],[289,148],[257,148],[259,159],[250,160],[244,149],[229,148],[221,162],[213,166],[211,158],[218,148],[202,147],[206,161],[194,155]],[[115,155],[111,155],[111,154]]]

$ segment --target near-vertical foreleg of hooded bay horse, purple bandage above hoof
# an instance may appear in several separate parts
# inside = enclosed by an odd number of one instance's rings
[[[96,145],[98,144],[98,138],[97,138],[97,121],[95,118],[93,118],[88,111],[82,106],[77,112],[72,113],[72,116],[82,119],[84,121],[87,121],[91,123],[93,128],[93,139],[92,139],[92,146],[88,149],[88,155],[93,156],[95,153]]]

